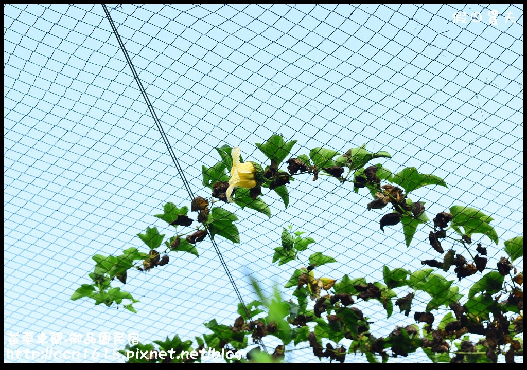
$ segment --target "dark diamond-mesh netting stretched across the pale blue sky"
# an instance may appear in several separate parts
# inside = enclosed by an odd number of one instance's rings
[[[366,144],[392,155],[379,163],[394,173],[416,167],[445,180],[448,189],[415,192],[433,214],[460,204],[491,215],[500,245],[479,239],[490,259],[499,259],[502,241],[522,235],[522,6],[108,8],[194,194],[210,196],[202,165],[217,163],[215,148],[224,144],[258,163],[267,158],[255,143],[272,134],[297,141],[291,156]],[[494,9],[497,24],[489,22]],[[409,248],[400,229],[380,232],[383,213],[367,211],[367,193],[307,175],[288,186],[287,208],[264,192],[271,217],[222,205],[238,216],[241,242],[216,241],[246,303],[256,298],[247,276],[271,295],[306,266],[307,258],[271,263],[287,225],[316,240],[311,253],[337,259],[317,269],[335,279],[382,281],[384,265],[415,270],[436,257],[424,230]],[[239,301],[209,240],[197,244],[199,258],[171,254],[165,268],[129,276],[125,290],[141,301],[136,314],[70,300],[90,283],[93,255],[144,251],[138,233],[152,225],[169,230],[153,217],[167,202],[181,207],[190,199],[103,7],[5,5],[4,348],[45,351],[55,338],[57,350],[92,351],[109,346],[65,337],[193,340],[208,333],[203,323],[212,319],[232,325]],[[378,302],[363,308],[378,335],[407,321],[398,309],[387,319]],[[37,343],[42,333],[47,344]],[[8,343],[14,337],[18,342]],[[276,344],[269,343],[272,352]],[[288,346],[287,361],[318,361],[306,347]],[[83,361],[124,361],[111,356]],[[409,358],[430,361],[423,352]]]

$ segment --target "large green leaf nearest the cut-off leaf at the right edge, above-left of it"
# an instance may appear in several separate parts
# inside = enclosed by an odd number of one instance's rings
[[[494,218],[485,215],[475,208],[465,206],[452,206],[450,213],[454,216],[451,223],[452,228],[458,234],[464,234],[469,237],[472,234],[484,234],[497,245],[497,233],[494,227],[489,224]],[[460,227],[463,227],[463,233],[460,232]]]

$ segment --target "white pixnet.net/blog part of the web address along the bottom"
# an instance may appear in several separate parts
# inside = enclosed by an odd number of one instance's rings
[[[139,349],[136,349],[135,351],[126,351],[126,358],[130,359],[132,357],[136,359],[147,359],[147,360],[156,360],[156,359],[198,359],[198,357],[201,357],[201,359],[209,360],[209,359],[221,359],[221,358],[227,358],[227,359],[241,359],[242,353],[240,351],[231,351],[224,349],[221,349],[221,351],[217,351],[214,348],[207,349],[200,349],[200,351],[181,351],[180,354],[176,354],[176,351],[174,349],[170,349],[170,351],[140,351]]]

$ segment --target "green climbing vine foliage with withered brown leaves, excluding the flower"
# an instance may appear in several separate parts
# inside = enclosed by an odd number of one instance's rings
[[[382,282],[368,281],[357,271],[350,271],[340,279],[320,276],[317,268],[336,262],[335,257],[321,252],[310,253],[308,249],[316,243],[315,239],[302,236],[305,232],[295,231],[289,225],[277,236],[272,263],[278,266],[298,261],[309,263],[296,268],[284,286],[284,289],[294,289],[295,299],[282,298],[277,288],[268,298],[252,280],[258,300],[246,305],[240,303],[239,317],[232,325],[220,324],[215,319],[206,323],[210,334],[196,337],[197,346],[193,346],[192,341],[181,341],[178,335],[153,344],[126,346],[121,353],[128,362],[200,361],[200,357],[168,358],[166,353],[170,351],[202,354],[221,351],[227,362],[279,362],[288,344],[309,345],[315,357],[338,362],[344,362],[346,355],[351,353],[364,354],[368,362],[387,362],[390,357],[408,356],[418,349],[433,362],[496,362],[498,354],[505,354],[505,360],[513,362],[515,355],[523,353],[523,274],[512,265],[515,259],[523,256],[523,236],[504,241],[506,256],[490,263],[486,248],[481,243],[474,247],[472,237],[481,234],[495,245],[499,244],[491,216],[468,205],[453,205],[447,212],[440,209],[434,217],[428,217],[425,203],[414,203],[409,198],[423,186],[448,188],[440,177],[420,173],[415,167],[393,174],[383,164],[367,166],[375,158],[391,158],[391,155],[385,151],[369,152],[365,145],[350,148],[344,154],[316,147],[286,161],[295,144],[296,141],[287,142],[278,134],[264,144],[257,143],[269,160],[265,170],[261,166],[263,179],[251,189],[236,189],[232,194],[234,203],[271,217],[262,190],[275,191],[288,207],[287,185],[294,179],[305,175],[313,176],[315,181],[320,176],[335,178],[342,184],[352,185],[357,193],[365,188],[367,196],[373,198],[367,204],[368,211],[386,208],[379,219],[380,231],[385,232],[387,226],[402,229],[407,247],[411,247],[418,228],[429,228],[430,246],[441,257],[422,261],[425,268],[384,266]],[[218,205],[221,204],[218,202],[227,202],[225,191],[233,164],[232,148],[224,145],[216,149],[220,161],[212,167],[202,166],[202,185],[212,194],[206,198],[196,197],[190,204],[190,211],[197,212],[198,225],[192,227],[195,220],[188,216],[188,206],[179,208],[170,202],[164,204],[163,213],[155,217],[174,226],[175,235],[165,238],[166,234],[161,234],[157,227],[148,227],[138,234],[148,247],[148,253],[128,248],[118,256],[93,256],[95,268],[89,274],[92,283],[82,284],[71,299],[88,297],[94,299],[96,305],[104,303],[107,306],[120,305],[123,299],[128,299],[131,303],[124,307],[135,312],[132,304],[139,301],[119,287],[112,287],[115,278],[125,284],[130,270],[148,272],[164,266],[169,263],[170,252],[198,257],[196,245],[207,237],[219,236],[232,243],[240,242],[236,226],[238,217],[228,207]],[[288,165],[287,172],[280,169],[284,164]],[[255,163],[257,167],[260,168]],[[190,227],[191,231],[179,234],[178,227]],[[445,252],[448,242],[452,242],[452,246]],[[166,248],[159,252],[163,244]],[[456,253],[454,247],[462,247],[464,252]],[[468,295],[459,293],[455,280],[443,276],[443,272],[451,269],[457,276],[457,283],[481,274]],[[425,312],[416,311],[416,296],[426,303]],[[414,311],[416,323],[396,326],[386,337],[376,337],[370,332],[369,318],[361,309],[366,301],[380,305],[387,317],[393,314],[394,306],[406,316]],[[261,344],[266,336],[280,343],[272,354],[261,352],[257,347],[251,349],[246,358],[235,356],[249,347],[249,337],[252,343]]]

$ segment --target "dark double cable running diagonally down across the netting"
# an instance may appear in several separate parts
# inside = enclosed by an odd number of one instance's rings
[[[145,88],[143,87],[143,84],[141,83],[141,79],[139,78],[139,74],[135,71],[135,67],[132,64],[132,59],[130,58],[130,56],[128,55],[128,52],[126,51],[126,48],[124,47],[124,43],[122,42],[121,36],[117,32],[117,27],[113,23],[113,19],[110,16],[110,12],[108,11],[108,8],[106,7],[105,4],[102,4],[102,6],[103,6],[103,9],[104,9],[104,13],[106,13],[106,18],[108,18],[108,21],[110,22],[110,25],[112,26],[113,33],[114,33],[115,37],[117,38],[119,46],[121,47],[121,50],[122,50],[122,52],[124,54],[124,57],[126,59],[126,63],[128,63],[128,66],[130,67],[130,69],[132,71],[132,74],[133,74],[133,77],[135,79],[135,82],[138,84],[139,89],[141,91],[141,94],[143,95],[143,98],[144,98],[145,102],[147,103],[147,106],[148,106],[148,109],[150,111],[150,114],[152,115],[152,118],[154,119],[155,125],[157,126],[157,128],[159,130],[159,133],[161,134],[161,137],[163,139],[164,144],[167,146],[168,152],[170,154],[170,157],[172,158],[172,161],[174,162],[175,168],[177,169],[178,174],[181,176],[181,179],[183,181],[183,185],[187,189],[187,192],[189,194],[190,199],[194,199],[195,198],[194,193],[192,192],[192,189],[190,188],[190,184],[189,184],[187,178],[185,177],[185,173],[183,171],[183,168],[181,167],[181,164],[178,161],[178,157],[174,153],[174,149],[172,148],[172,146],[169,143],[167,134],[164,132],[164,129],[161,126],[161,122],[159,121],[158,115],[154,111],[152,103],[150,102],[150,98],[147,95],[147,91],[145,90]],[[223,255],[221,254],[221,251],[220,251],[218,245],[216,244],[216,241],[214,241],[214,239],[211,237],[207,225],[203,224],[203,226],[207,230],[207,233],[209,234],[209,237],[210,237],[210,240],[211,240],[212,245],[214,247],[214,250],[218,254],[218,257],[220,259],[221,265],[225,269],[227,277],[229,278],[229,281],[232,284],[232,288],[234,289],[236,295],[238,296],[238,299],[239,299],[239,301],[240,301],[240,303],[241,303],[241,305],[243,307],[243,311],[245,311],[247,317],[249,318],[249,320],[250,320],[250,322],[252,324],[253,321],[252,321],[252,318],[251,318],[251,316],[249,314],[249,310],[247,309],[247,306],[245,305],[245,302],[243,302],[243,298],[242,298],[241,293],[240,293],[240,291],[238,289],[238,286],[236,285],[236,282],[235,282],[234,278],[232,277],[231,272],[229,271],[229,267],[227,266],[227,263],[225,262],[225,259],[223,258]],[[251,327],[252,327],[252,325],[251,325]],[[266,346],[265,346],[265,344],[264,344],[264,342],[262,341],[261,338],[258,339],[258,342],[262,346],[262,348],[264,348],[264,351],[266,353],[268,353],[267,348],[266,348]]]

